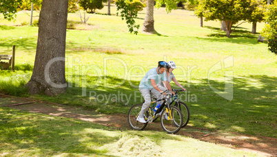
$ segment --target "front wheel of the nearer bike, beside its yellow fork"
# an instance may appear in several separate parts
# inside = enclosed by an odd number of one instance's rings
[[[161,114],[161,126],[169,134],[175,134],[182,128],[183,115],[179,108],[170,106],[168,112],[163,110]]]

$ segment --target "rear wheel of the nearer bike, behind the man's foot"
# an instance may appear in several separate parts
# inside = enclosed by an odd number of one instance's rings
[[[136,117],[139,116],[139,112],[141,112],[142,106],[142,104],[135,104],[130,108],[128,112],[128,123],[133,130],[143,130],[147,125],[147,123],[136,121]],[[145,121],[147,121],[147,117],[145,117]]]

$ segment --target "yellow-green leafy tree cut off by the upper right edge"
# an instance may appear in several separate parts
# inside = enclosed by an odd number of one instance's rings
[[[269,51],[277,54],[277,1],[269,5],[265,12],[265,27],[262,31],[262,36],[267,38]]]

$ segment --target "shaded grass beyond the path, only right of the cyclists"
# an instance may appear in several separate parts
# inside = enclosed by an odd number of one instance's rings
[[[202,84],[191,84],[189,90],[196,91],[197,102],[187,101],[191,111],[189,124],[276,138],[276,80],[277,77],[263,75],[234,77],[234,87],[229,93],[234,97],[232,101],[210,88],[224,92],[225,82],[209,80],[208,84],[208,80],[200,80]]]

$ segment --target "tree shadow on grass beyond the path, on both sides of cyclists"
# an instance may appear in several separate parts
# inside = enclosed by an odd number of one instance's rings
[[[128,80],[118,77],[108,76],[105,81],[104,79],[101,77],[102,83],[98,86],[90,86],[96,84],[99,77],[89,77],[85,91],[80,87],[72,87],[68,88],[64,95],[43,99],[60,104],[79,105],[98,112],[121,114],[127,114],[133,104],[143,102],[139,88],[132,86],[138,86],[139,81],[132,81],[131,85]],[[234,77],[232,101],[220,97],[210,87],[224,91],[225,82],[209,80],[208,84],[208,80],[203,79],[199,80],[202,83],[190,84],[187,93],[180,98],[191,111],[189,125],[209,130],[276,137],[276,80],[277,77],[264,75]],[[104,85],[103,82],[107,84]],[[257,83],[258,85],[255,85]],[[82,92],[85,92],[85,97]],[[196,101],[192,99],[194,95]]]

